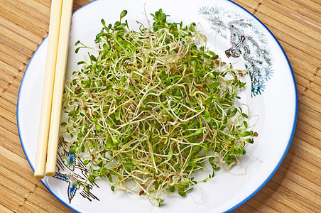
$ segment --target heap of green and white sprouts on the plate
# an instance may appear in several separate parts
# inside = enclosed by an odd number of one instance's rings
[[[111,190],[159,205],[239,163],[256,133],[237,104],[244,72],[207,50],[195,23],[168,23],[160,9],[148,28],[132,31],[121,22],[126,13],[114,25],[102,20],[97,55],[88,53],[67,81],[62,126],[68,151],[89,168],[87,181],[106,177]],[[89,48],[76,45],[76,53]],[[208,177],[195,180],[197,170]]]

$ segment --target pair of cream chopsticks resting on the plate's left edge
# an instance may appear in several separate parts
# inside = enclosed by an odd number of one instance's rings
[[[52,0],[35,178],[55,175],[73,0]]]

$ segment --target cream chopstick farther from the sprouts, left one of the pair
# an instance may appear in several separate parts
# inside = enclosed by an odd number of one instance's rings
[[[43,85],[43,102],[41,106],[38,147],[36,154],[35,178],[45,176],[45,159],[47,157],[51,105],[53,101],[53,84],[60,31],[62,0],[51,1],[48,50],[45,64],[45,84]]]

